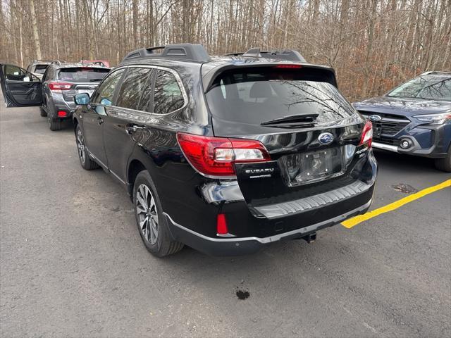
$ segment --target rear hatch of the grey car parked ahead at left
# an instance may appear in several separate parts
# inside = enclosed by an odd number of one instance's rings
[[[109,73],[108,68],[73,67],[58,70],[58,82],[68,84],[63,87],[63,97],[72,102],[76,94],[92,95],[101,80]],[[70,86],[69,86],[70,84]],[[60,86],[61,87],[61,86]]]

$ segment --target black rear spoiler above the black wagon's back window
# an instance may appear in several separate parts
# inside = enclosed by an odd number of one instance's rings
[[[240,63],[240,64],[226,64],[218,66],[202,77],[202,84],[204,92],[208,92],[216,80],[216,77],[227,70],[245,69],[245,68],[275,68],[278,65],[299,65],[299,71],[305,75],[305,80],[318,81],[320,78],[322,82],[328,82],[338,88],[337,78],[335,77],[335,70],[326,65],[311,65],[309,63]]]

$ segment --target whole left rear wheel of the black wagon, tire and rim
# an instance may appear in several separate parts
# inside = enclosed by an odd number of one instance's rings
[[[184,244],[174,241],[169,233],[161,201],[147,170],[143,170],[136,177],[133,186],[133,205],[138,231],[150,253],[163,257],[183,248]]]

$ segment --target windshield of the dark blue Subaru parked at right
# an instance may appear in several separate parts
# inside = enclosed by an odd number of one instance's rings
[[[451,78],[416,77],[393,89],[387,96],[451,101]]]

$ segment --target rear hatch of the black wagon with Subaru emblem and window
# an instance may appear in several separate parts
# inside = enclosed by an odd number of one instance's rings
[[[309,211],[369,189],[359,180],[364,120],[330,68],[231,68],[211,77],[206,100],[215,137],[257,140],[268,151],[266,160],[235,163],[254,216]]]

